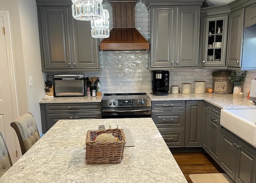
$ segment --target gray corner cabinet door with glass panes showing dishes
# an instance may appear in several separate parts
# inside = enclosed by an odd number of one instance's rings
[[[207,16],[204,25],[202,66],[225,66],[228,14]]]

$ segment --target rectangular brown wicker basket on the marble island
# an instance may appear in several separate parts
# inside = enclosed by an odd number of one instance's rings
[[[112,133],[120,141],[94,141],[100,134]],[[85,160],[87,164],[114,164],[120,163],[124,157],[126,138],[122,129],[88,130],[86,134]]]

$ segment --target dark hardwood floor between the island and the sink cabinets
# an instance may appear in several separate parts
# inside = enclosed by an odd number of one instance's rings
[[[202,152],[172,153],[188,183],[192,183],[190,174],[224,173],[222,168],[208,155]]]

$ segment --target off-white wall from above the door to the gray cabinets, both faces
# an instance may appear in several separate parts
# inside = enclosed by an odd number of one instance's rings
[[[41,134],[38,101],[45,93],[40,63],[36,0],[0,0],[0,10],[8,11],[10,15],[19,116],[32,112]],[[29,87],[30,76],[34,80],[33,87]]]

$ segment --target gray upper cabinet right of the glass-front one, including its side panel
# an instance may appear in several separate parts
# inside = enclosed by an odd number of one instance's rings
[[[242,8],[230,13],[226,65],[228,69],[256,70],[256,24],[244,28],[244,12]]]

